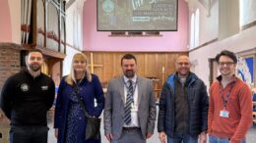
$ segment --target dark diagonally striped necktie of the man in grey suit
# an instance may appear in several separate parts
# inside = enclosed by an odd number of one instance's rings
[[[124,108],[124,122],[128,125],[131,123],[131,108],[133,103],[133,81],[128,80],[128,85],[126,86],[127,89],[127,97],[126,97],[126,104]]]

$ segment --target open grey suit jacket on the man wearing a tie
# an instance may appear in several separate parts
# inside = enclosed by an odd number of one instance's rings
[[[156,121],[156,101],[152,80],[138,76],[138,119],[143,138],[147,132],[154,133]],[[104,107],[104,131],[112,133],[113,139],[121,136],[124,124],[124,78],[110,79],[107,87]]]

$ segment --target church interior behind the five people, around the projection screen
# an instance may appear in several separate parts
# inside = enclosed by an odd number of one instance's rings
[[[38,48],[46,57],[42,71],[56,85],[70,71],[72,57],[83,52],[104,90],[111,77],[121,74],[120,58],[133,53],[139,74],[154,80],[156,98],[174,59],[186,54],[207,87],[219,74],[215,55],[226,49],[238,57],[236,74],[251,88],[253,126],[247,142],[256,142],[256,7],[255,0],[178,0],[176,31],[112,35],[96,30],[96,0],[1,0],[0,91],[6,78],[25,68],[26,51]],[[127,32],[125,32],[126,34]],[[157,33],[157,34],[156,34]],[[56,87],[57,88],[57,87]],[[49,142],[53,135],[49,111]],[[8,142],[9,120],[0,112],[0,142]],[[101,131],[101,134],[103,131]],[[254,134],[254,135],[253,135]],[[103,137],[103,143],[106,139]],[[158,132],[148,142],[159,142]]]

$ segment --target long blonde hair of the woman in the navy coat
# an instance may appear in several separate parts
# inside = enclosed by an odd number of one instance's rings
[[[86,66],[86,69],[85,69],[85,72],[84,72],[84,75],[83,75],[82,79],[86,76],[87,80],[89,82],[91,82],[92,81],[92,74],[88,69],[88,59],[87,59],[87,56],[83,53],[77,53],[73,56],[72,64],[71,64],[71,71],[70,71],[70,74],[68,74],[67,77],[65,78],[65,81],[70,85],[74,85],[74,83],[76,82],[75,70],[73,68],[73,64],[74,64],[75,60],[80,60],[80,61],[85,61],[86,62],[87,66]]]

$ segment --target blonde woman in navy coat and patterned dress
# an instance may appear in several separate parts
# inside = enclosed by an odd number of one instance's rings
[[[104,106],[102,87],[96,74],[88,70],[87,57],[82,53],[74,55],[70,74],[64,76],[59,85],[54,120],[58,143],[100,143],[100,140],[85,140],[87,121],[75,87],[79,88],[87,112],[99,117]]]

